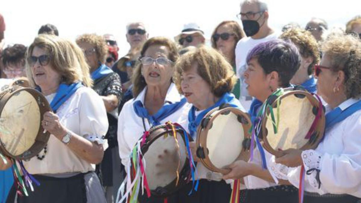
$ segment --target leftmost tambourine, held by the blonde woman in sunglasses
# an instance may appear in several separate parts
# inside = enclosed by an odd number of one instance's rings
[[[41,126],[43,114],[51,110],[49,103],[31,88],[4,92],[0,99],[1,152],[14,159],[30,159],[49,139],[50,134]]]

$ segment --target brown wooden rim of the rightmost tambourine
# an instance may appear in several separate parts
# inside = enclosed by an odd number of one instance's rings
[[[286,98],[287,96],[300,96],[300,95],[304,95],[308,101],[312,104],[313,108],[316,108],[316,112],[318,110],[319,106],[319,101],[317,98],[315,98],[312,94],[310,94],[307,91],[302,91],[302,90],[291,90],[291,91],[285,91],[281,96],[280,96],[280,106],[282,105],[282,99]],[[271,105],[273,108],[277,107],[277,99],[275,99]],[[321,141],[321,139],[323,138],[324,135],[324,130],[325,130],[325,109],[323,109],[323,106],[321,105],[322,108],[322,113],[321,113],[321,118],[318,120],[318,123],[316,125],[316,129],[315,131],[317,131],[317,138],[314,142],[310,143],[307,142],[303,147],[300,148],[300,150],[308,150],[308,149],[315,149],[318,146],[318,143]],[[268,115],[270,113],[269,108],[266,108],[266,115]],[[261,142],[262,142],[262,146],[265,148],[265,150],[267,150],[268,152],[270,152],[271,154],[275,155],[276,157],[280,157],[283,156],[283,152],[279,151],[278,149],[274,149],[273,147],[271,147],[268,139],[267,139],[267,135],[268,135],[268,130],[273,130],[273,129],[267,129],[266,128],[266,123],[267,123],[268,117],[265,116],[262,118],[262,125],[261,125],[261,134],[262,137],[260,138]],[[306,136],[306,135],[304,135]]]

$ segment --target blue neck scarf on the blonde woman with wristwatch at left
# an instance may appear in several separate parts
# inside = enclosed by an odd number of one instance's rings
[[[75,91],[79,87],[83,87],[81,82],[72,83],[71,85],[66,85],[65,83],[61,83],[59,85],[58,90],[56,91],[56,95],[54,99],[50,103],[51,109],[53,109],[53,112],[56,113],[58,108],[70,98],[71,95],[74,94]],[[36,88],[38,91],[42,91],[40,88]]]

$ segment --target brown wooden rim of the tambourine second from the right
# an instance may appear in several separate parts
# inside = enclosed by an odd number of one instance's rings
[[[248,133],[249,129],[251,128],[251,120],[247,113],[241,111],[238,108],[226,107],[226,108],[219,109],[219,107],[217,107],[217,108],[209,111],[204,116],[199,128],[197,129],[197,138],[196,138],[197,155],[199,155],[199,153],[202,153],[204,157],[199,157],[199,156],[198,157],[200,158],[200,160],[204,164],[204,166],[206,168],[208,168],[209,170],[211,170],[213,172],[218,172],[218,173],[229,173],[230,169],[217,168],[212,163],[212,161],[210,160],[208,148],[207,148],[207,136],[208,136],[208,131],[209,131],[210,127],[213,125],[213,121],[217,118],[218,115],[221,115],[222,113],[227,112],[227,111],[232,112],[235,115],[241,115],[241,116],[243,116],[243,118],[246,119],[247,123],[242,123],[244,139],[251,138],[251,135]],[[206,121],[206,120],[208,120],[208,121]],[[239,144],[242,145],[242,143],[239,143]],[[246,152],[246,151],[244,151],[244,149],[242,149],[239,156],[241,156],[242,153],[248,153],[248,152]],[[244,160],[248,161],[248,159],[249,159],[249,155],[246,155],[246,158],[244,158]]]

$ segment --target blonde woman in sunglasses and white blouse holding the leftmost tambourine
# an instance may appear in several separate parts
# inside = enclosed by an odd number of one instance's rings
[[[103,159],[108,121],[103,101],[90,88],[81,49],[55,35],[39,35],[27,50],[26,72],[52,108],[41,121],[51,136],[37,156],[24,162],[40,186],[17,202],[105,202],[94,170]],[[9,167],[0,161],[0,169]]]

